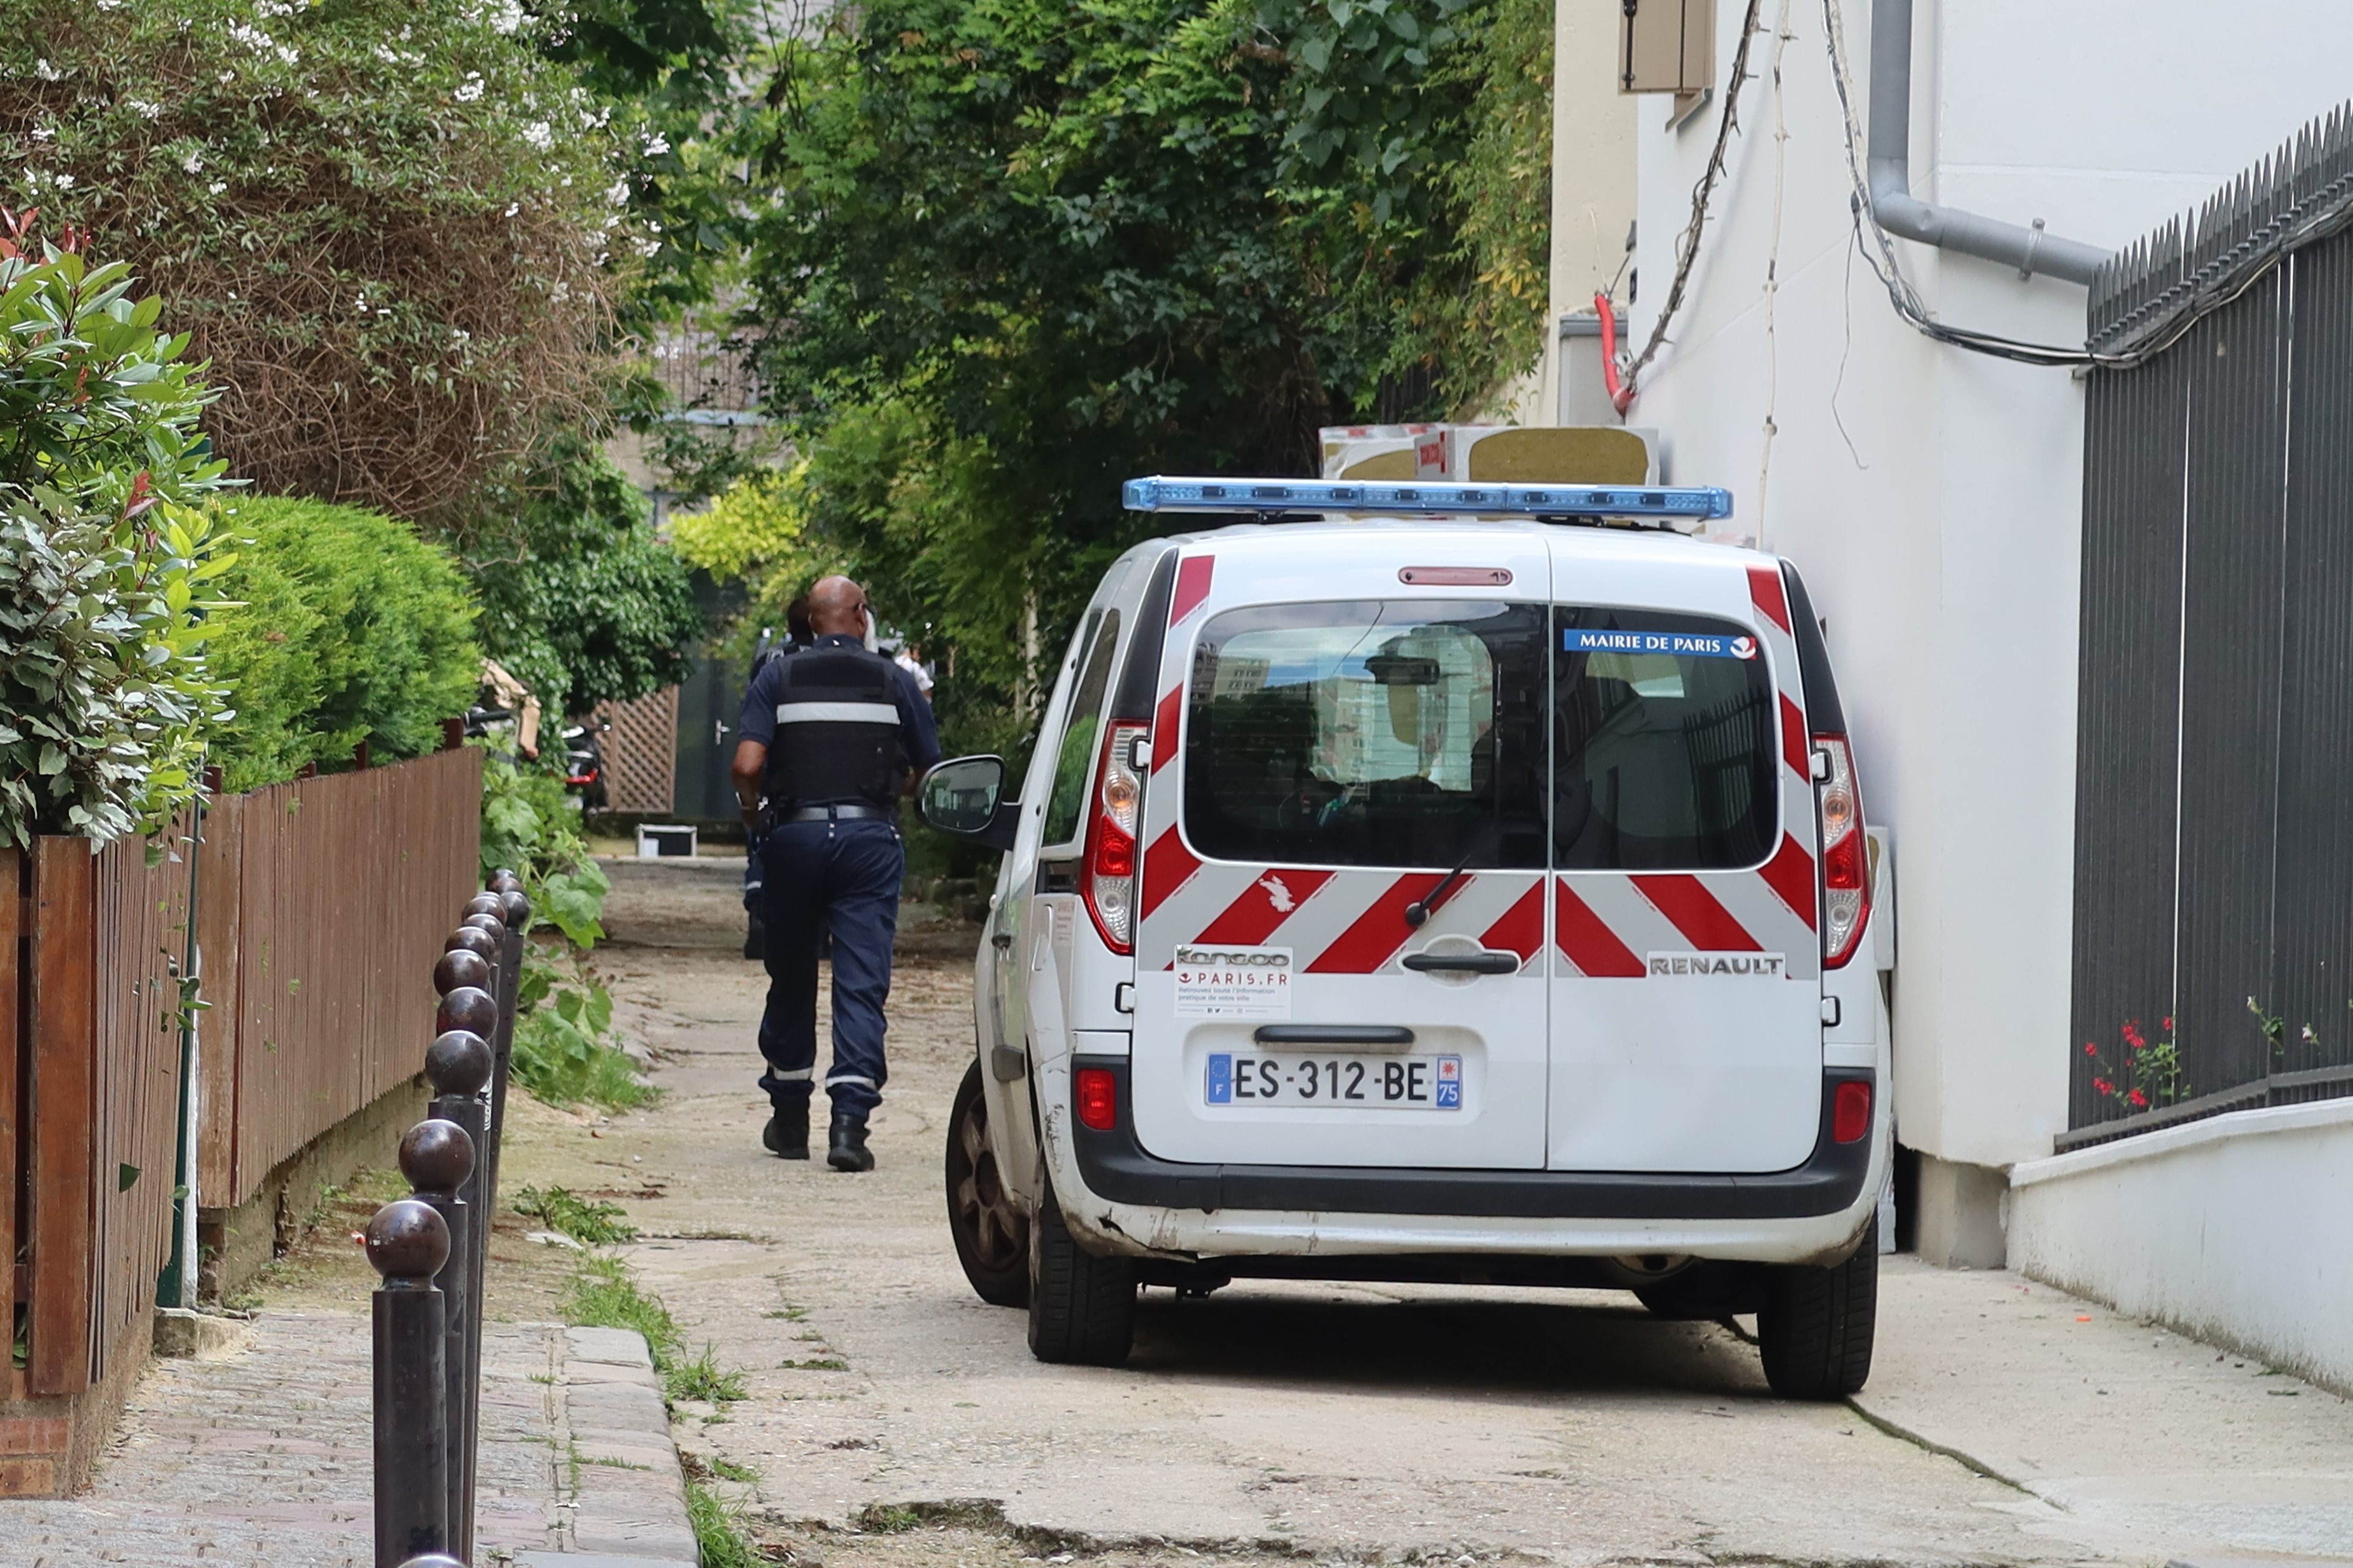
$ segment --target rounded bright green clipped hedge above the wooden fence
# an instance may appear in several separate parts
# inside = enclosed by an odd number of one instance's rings
[[[480,682],[473,602],[442,545],[384,512],[322,501],[224,501],[238,562],[207,651],[235,717],[212,759],[231,790],[440,745]]]

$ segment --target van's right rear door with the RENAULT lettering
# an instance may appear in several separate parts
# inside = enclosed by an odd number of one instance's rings
[[[1555,543],[1548,1164],[1784,1171],[1821,1119],[1788,607],[1774,567],[1659,545]]]

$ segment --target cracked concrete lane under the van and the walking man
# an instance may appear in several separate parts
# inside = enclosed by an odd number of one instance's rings
[[[1609,1293],[1153,1291],[1132,1366],[1040,1366],[944,1229],[969,929],[904,931],[880,1171],[835,1175],[758,1145],[762,978],[736,957],[736,867],[612,870],[600,964],[668,1098],[536,1133],[511,1168],[619,1197],[649,1227],[647,1284],[748,1368],[751,1399],[708,1425],[689,1410],[678,1441],[758,1474],[744,1500],[795,1552],[816,1540],[802,1521],[1002,1514],[1026,1549],[1075,1552],[2353,1556],[2341,1399],[2007,1274],[1889,1260],[1852,1408],[1774,1401],[1739,1335]],[[951,1500],[984,1502],[934,1507]],[[821,1547],[828,1566],[847,1540]]]

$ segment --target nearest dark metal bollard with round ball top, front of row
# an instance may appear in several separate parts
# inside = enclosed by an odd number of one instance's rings
[[[416,1199],[367,1222],[367,1260],[384,1276],[376,1335],[376,1568],[449,1549],[449,1410],[442,1293],[449,1227]]]

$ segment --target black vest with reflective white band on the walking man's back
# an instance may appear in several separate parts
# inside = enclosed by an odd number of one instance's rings
[[[786,658],[781,677],[767,745],[769,804],[894,804],[906,778],[896,665],[861,646],[821,646]]]

